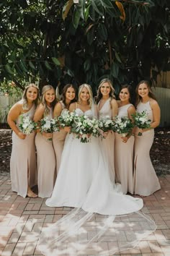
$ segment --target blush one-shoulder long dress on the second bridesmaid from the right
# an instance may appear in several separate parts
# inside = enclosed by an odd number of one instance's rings
[[[118,108],[118,116],[128,117],[128,108],[133,106],[127,104]],[[122,192],[133,194],[133,147],[134,137],[131,136],[126,143],[122,142],[122,135],[115,132],[115,171],[116,182],[122,185]]]

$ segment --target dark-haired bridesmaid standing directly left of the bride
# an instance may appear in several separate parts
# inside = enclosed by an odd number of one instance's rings
[[[76,101],[76,89],[73,85],[68,84],[63,88],[62,101],[59,101],[54,108],[53,116],[58,117],[63,114],[63,112],[68,111],[71,103]],[[61,154],[63,152],[63,145],[68,132],[70,132],[71,127],[64,127],[60,132],[53,133],[53,146],[56,156],[56,174],[58,174],[59,167],[61,165]]]

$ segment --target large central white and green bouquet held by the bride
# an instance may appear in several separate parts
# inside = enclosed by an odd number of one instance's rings
[[[97,119],[89,119],[86,115],[77,116],[74,119],[72,132],[81,142],[89,142],[89,136],[99,137],[99,125]]]

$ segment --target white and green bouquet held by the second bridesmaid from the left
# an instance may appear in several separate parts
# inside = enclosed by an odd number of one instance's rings
[[[48,116],[45,116],[43,119],[40,120],[40,131],[41,132],[58,132],[58,120],[57,119],[50,119]],[[52,140],[51,138],[48,140]]]

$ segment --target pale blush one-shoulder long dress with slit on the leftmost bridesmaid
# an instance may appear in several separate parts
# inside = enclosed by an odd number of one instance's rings
[[[22,116],[33,118],[35,105],[17,119],[17,127],[21,123]],[[15,132],[12,132],[12,155],[10,161],[10,172],[12,180],[12,191],[22,197],[27,196],[27,187],[37,184],[37,166],[35,155],[35,132],[27,135],[24,140],[20,139]]]

